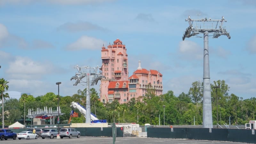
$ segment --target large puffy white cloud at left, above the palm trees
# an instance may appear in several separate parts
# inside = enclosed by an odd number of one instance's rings
[[[14,79],[39,79],[44,74],[53,72],[53,66],[49,62],[35,62],[29,58],[17,57],[9,63],[6,73]]]

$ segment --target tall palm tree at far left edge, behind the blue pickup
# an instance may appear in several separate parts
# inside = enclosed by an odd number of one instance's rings
[[[4,94],[4,91],[5,90],[7,91],[9,88],[8,83],[9,82],[5,81],[4,78],[0,79],[0,93],[2,96],[2,124],[3,124],[2,128],[4,128],[4,100],[5,98],[10,98],[8,93]]]

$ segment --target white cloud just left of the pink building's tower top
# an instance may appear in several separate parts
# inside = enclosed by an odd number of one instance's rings
[[[66,48],[67,50],[99,50],[104,43],[106,42],[104,42],[101,39],[97,39],[90,36],[81,36],[76,42],[69,44]]]

